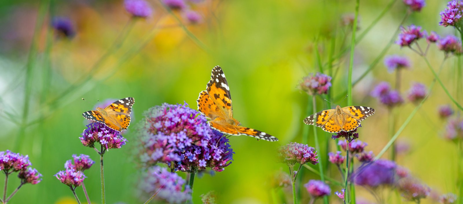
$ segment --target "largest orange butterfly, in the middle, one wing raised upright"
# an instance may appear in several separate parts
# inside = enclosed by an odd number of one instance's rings
[[[215,130],[227,135],[247,135],[257,140],[278,141],[278,138],[265,132],[246,128],[233,118],[232,96],[222,68],[212,69],[211,80],[207,83],[206,91],[202,91],[197,100],[198,110],[208,119]]]

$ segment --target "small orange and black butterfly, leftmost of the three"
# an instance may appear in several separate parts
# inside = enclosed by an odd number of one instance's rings
[[[135,99],[129,97],[114,101],[106,108],[97,107],[96,111],[87,111],[82,116],[88,120],[106,124],[111,129],[122,131],[127,130],[130,124],[130,112]]]

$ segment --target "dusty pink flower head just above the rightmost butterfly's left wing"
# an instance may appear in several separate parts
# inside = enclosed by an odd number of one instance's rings
[[[331,76],[321,73],[309,74],[302,78],[302,82],[299,84],[299,88],[309,95],[328,93],[330,87]]]

